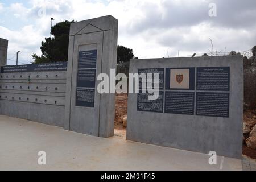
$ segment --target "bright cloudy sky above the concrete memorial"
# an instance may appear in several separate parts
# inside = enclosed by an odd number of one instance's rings
[[[209,16],[216,4],[217,16]],[[112,15],[119,20],[118,44],[139,58],[247,51],[256,45],[255,0],[0,0],[0,38],[9,39],[8,64],[40,55],[51,20],[85,20]],[[223,51],[224,50],[224,51]],[[222,53],[221,52],[221,53]]]

